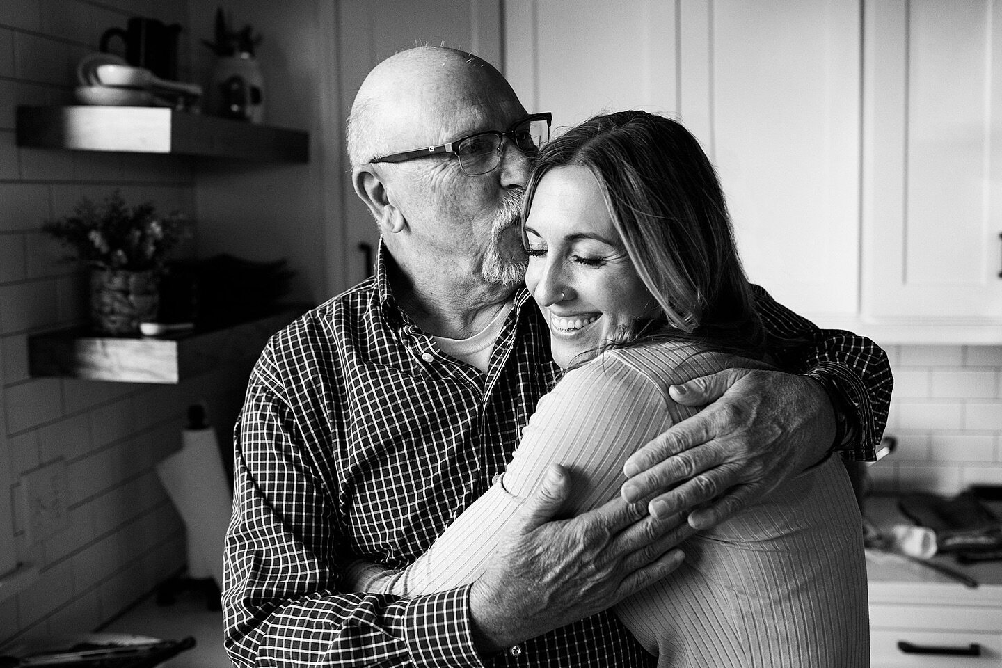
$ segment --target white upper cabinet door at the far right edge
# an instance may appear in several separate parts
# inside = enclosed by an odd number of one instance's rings
[[[997,318],[1002,3],[866,11],[864,312]]]

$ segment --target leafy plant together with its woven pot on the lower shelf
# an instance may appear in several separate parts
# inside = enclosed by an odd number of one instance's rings
[[[158,280],[167,251],[188,233],[187,216],[159,214],[152,202],[129,206],[118,190],[102,203],[83,197],[72,215],[48,220],[42,230],[72,250],[67,259],[91,266],[90,318],[104,335],[138,333],[155,320]]]

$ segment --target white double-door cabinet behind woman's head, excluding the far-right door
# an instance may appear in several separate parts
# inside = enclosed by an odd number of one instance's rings
[[[753,281],[795,310],[859,308],[860,7],[841,0],[505,4],[530,110],[678,118],[720,174]]]

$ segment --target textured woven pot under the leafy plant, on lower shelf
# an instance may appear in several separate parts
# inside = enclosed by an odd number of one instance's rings
[[[160,297],[155,271],[92,269],[90,324],[97,333],[132,336],[156,319]]]

